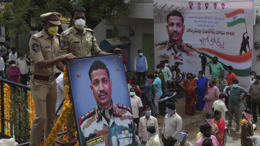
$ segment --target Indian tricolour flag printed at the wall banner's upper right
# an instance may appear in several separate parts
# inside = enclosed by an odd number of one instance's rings
[[[245,24],[245,12],[243,9],[237,9],[233,12],[225,13],[227,27],[235,26],[236,24]]]

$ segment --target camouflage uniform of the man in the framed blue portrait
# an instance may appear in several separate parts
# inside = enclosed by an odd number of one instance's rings
[[[106,145],[118,146],[129,145],[133,143],[133,122],[132,110],[123,105],[115,104],[114,102],[108,108],[111,118],[110,122],[104,118],[102,111],[96,107],[87,112],[79,119],[80,135],[83,136],[86,145]]]

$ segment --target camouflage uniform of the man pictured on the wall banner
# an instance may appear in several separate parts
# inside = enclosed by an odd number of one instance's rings
[[[180,44],[171,44],[169,41],[158,42],[155,44],[155,49],[157,57],[160,60],[169,60],[170,66],[174,65],[175,62],[187,65],[197,60],[196,48],[183,41]]]

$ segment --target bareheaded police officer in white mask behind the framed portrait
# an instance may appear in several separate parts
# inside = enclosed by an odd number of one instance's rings
[[[101,51],[96,44],[96,38],[93,35],[93,30],[85,27],[85,8],[76,7],[71,12],[71,24],[73,26],[61,33],[60,39],[60,55],[72,53],[76,57],[89,57],[92,55],[108,55]],[[116,50],[120,50],[116,48]],[[64,82],[64,84],[68,84]],[[73,110],[70,111],[67,118],[67,136],[69,143],[77,142],[75,138],[76,125],[74,122]]]

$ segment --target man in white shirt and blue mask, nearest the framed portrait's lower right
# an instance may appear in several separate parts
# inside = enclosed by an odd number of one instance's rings
[[[146,112],[146,116],[143,116],[139,120],[139,128],[138,128],[138,136],[141,141],[142,145],[146,145],[146,142],[148,140],[148,132],[147,127],[153,126],[155,127],[155,132],[157,135],[159,135],[159,129],[158,129],[158,122],[157,118],[151,116],[152,111],[150,110],[150,106],[145,105],[144,111]]]

